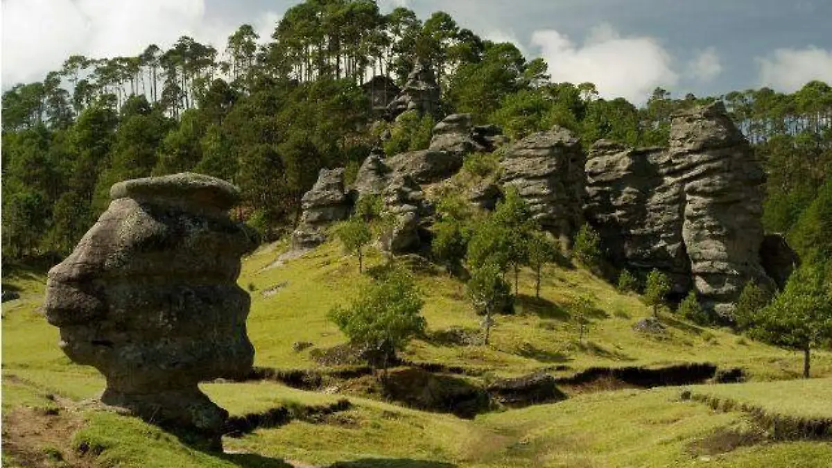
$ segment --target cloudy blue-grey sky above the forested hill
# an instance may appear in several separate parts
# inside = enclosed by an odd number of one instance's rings
[[[2,0],[2,88],[39,81],[66,57],[137,55],[182,35],[219,50],[240,24],[264,39],[300,0]],[[493,41],[543,57],[555,82],[644,102],[832,83],[832,0],[379,0],[387,12],[451,14]]]

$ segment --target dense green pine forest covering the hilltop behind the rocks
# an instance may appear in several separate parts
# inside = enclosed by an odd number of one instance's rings
[[[658,88],[636,107],[599,97],[592,83],[551,82],[542,59],[444,12],[422,20],[404,7],[383,14],[373,0],[307,0],[268,41],[243,25],[224,51],[181,37],[136,57],[72,56],[42,82],[4,92],[3,262],[67,254],[106,209],[112,183],[182,171],[237,184],[236,216],[279,236],[321,168],[354,170],[378,145],[364,82],[401,84],[418,60],[436,72],[443,113],[470,112],[513,139],[558,124],[587,145],[663,145],[673,112],[722,100],[765,164],[766,229],[788,233],[804,255],[832,254],[832,88],[823,82],[715,97]],[[417,134],[433,120],[405,124]]]

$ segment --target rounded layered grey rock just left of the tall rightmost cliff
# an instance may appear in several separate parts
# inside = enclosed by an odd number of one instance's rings
[[[541,227],[571,246],[582,225],[584,155],[571,132],[554,127],[508,148],[500,182],[516,187]]]

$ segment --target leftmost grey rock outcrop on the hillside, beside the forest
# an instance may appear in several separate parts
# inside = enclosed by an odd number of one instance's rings
[[[352,203],[344,188],[344,168],[321,169],[318,182],[301,200],[303,215],[292,243],[296,248],[319,246],[326,241],[324,229],[349,217]]]

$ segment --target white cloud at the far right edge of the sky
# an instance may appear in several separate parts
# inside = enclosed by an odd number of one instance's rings
[[[832,51],[818,47],[780,48],[768,57],[756,57],[760,85],[794,92],[807,82],[832,82]]]

